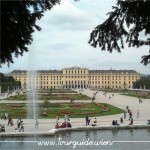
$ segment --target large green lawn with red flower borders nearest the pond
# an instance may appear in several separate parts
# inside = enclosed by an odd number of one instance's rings
[[[29,104],[28,104],[29,105]],[[70,118],[81,118],[89,114],[91,117],[105,116],[123,113],[122,109],[108,104],[95,104],[95,103],[48,103],[44,102],[38,104],[36,107],[38,118],[56,118],[59,116],[63,118],[67,114]],[[26,104],[0,104],[1,112],[8,112],[12,118],[27,118]],[[29,108],[29,107],[28,107]],[[30,104],[32,109],[32,104]],[[33,111],[31,111],[33,112]],[[33,114],[30,115],[32,119]]]

